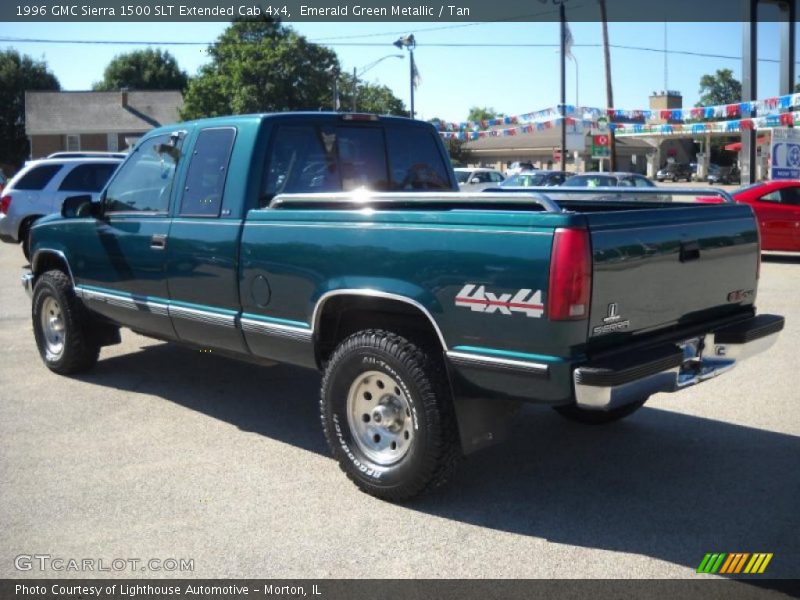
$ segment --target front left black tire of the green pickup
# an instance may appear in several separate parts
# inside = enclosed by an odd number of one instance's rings
[[[33,335],[39,354],[47,368],[61,375],[85,371],[97,362],[100,345],[89,333],[90,320],[75,296],[69,277],[62,271],[47,271],[33,288]],[[44,321],[49,313],[55,319],[50,325],[53,340],[48,341]],[[51,321],[52,323],[52,321]],[[54,350],[59,344],[60,351]]]

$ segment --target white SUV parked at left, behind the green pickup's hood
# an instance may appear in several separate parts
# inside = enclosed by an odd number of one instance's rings
[[[32,160],[11,178],[0,196],[0,240],[22,244],[40,217],[61,211],[69,196],[90,194],[97,201],[121,158],[46,158]]]

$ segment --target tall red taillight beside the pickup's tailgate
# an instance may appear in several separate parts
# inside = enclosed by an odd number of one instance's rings
[[[550,255],[547,316],[551,321],[589,318],[592,254],[585,229],[556,229]]]

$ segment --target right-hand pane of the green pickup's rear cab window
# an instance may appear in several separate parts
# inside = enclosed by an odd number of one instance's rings
[[[432,132],[417,127],[388,127],[386,145],[390,168],[389,189],[450,189],[450,177]]]

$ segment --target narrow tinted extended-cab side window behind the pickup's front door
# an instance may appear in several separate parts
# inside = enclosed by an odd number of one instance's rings
[[[203,129],[192,151],[180,214],[218,217],[228,163],[236,130],[232,127]]]

